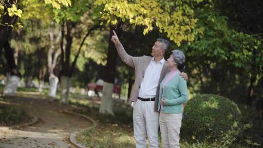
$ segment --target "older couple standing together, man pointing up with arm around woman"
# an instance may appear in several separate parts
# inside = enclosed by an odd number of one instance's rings
[[[112,41],[122,61],[135,69],[130,100],[136,148],[146,148],[147,136],[149,148],[159,147],[159,124],[163,148],[179,148],[182,103],[188,101],[188,76],[179,71],[185,66],[185,55],[173,50],[166,61],[164,53],[170,42],[158,38],[152,47],[153,57],[130,56],[113,33]]]

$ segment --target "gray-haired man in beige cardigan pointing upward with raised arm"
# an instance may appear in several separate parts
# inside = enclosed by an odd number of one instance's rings
[[[124,50],[116,33],[112,41],[122,61],[135,69],[135,82],[131,90],[130,100],[133,105],[133,129],[136,148],[146,148],[148,136],[149,148],[158,148],[159,112],[157,111],[159,86],[169,72],[164,53],[170,47],[166,39],[158,38],[154,43],[151,56],[130,56]],[[187,74],[181,76],[188,79]],[[133,103],[134,102],[134,103]]]

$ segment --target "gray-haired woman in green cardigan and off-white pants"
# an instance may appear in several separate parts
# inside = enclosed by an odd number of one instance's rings
[[[188,101],[187,81],[179,76],[185,61],[182,51],[173,50],[167,60],[170,72],[160,84],[158,111],[163,148],[179,148],[182,104]]]

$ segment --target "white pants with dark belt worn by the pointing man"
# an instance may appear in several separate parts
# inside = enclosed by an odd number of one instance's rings
[[[149,148],[159,148],[159,113],[154,112],[154,101],[137,100],[133,106],[133,130],[136,148],[146,148],[148,136]]]

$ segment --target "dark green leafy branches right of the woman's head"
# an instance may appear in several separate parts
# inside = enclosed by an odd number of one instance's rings
[[[227,25],[227,18],[209,9],[197,9],[197,27],[204,34],[197,34],[195,41],[184,45],[188,56],[215,57],[217,60],[231,60],[236,67],[247,68],[252,61],[252,51],[257,50],[258,63],[263,63],[262,41],[257,37],[237,32]]]

